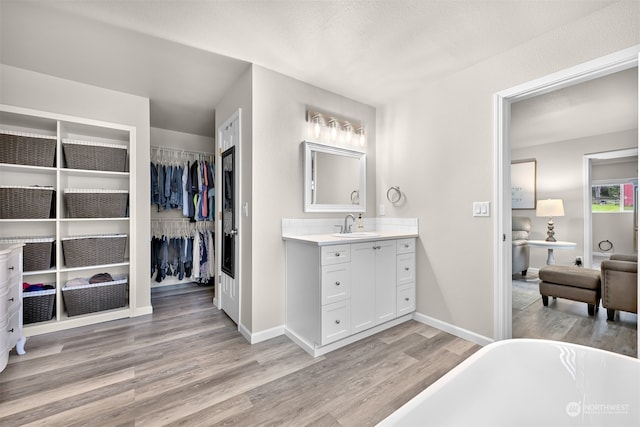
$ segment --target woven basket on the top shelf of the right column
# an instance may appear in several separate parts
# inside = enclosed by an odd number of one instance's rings
[[[70,169],[124,172],[127,166],[127,146],[100,142],[63,139],[62,149]]]

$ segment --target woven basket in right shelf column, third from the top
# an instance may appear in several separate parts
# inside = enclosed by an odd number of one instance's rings
[[[126,234],[70,236],[61,240],[66,267],[124,262]]]

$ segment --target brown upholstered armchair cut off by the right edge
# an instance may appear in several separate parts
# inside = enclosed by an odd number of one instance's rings
[[[600,265],[602,306],[607,319],[613,320],[616,310],[638,312],[638,256],[611,255]]]

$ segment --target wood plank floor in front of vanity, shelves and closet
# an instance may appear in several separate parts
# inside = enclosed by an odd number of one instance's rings
[[[375,425],[480,348],[410,321],[313,358],[249,345],[211,300],[160,288],[152,315],[31,337],[0,373],[0,425]]]

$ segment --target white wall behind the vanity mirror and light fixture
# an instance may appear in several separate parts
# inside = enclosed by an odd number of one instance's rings
[[[285,250],[282,218],[336,217],[344,214],[303,212],[301,143],[306,138],[307,106],[361,119],[367,134],[367,211],[375,216],[375,109],[294,80],[253,67],[253,324],[260,332],[284,324]],[[244,303],[244,297],[243,297]]]

